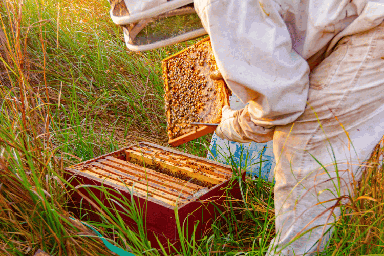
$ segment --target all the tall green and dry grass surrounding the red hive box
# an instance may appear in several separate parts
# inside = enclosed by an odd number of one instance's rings
[[[106,1],[3,1],[0,14],[0,254],[111,255],[70,218],[63,168],[142,140],[166,145],[160,62],[196,40],[127,52]],[[208,144],[205,136],[179,150],[206,156]],[[344,206],[325,255],[384,253],[383,148]],[[181,254],[265,254],[274,236],[273,185],[247,179],[242,188],[243,200],[228,200],[207,236],[185,240]],[[137,220],[137,232],[113,209],[88,223],[124,250],[160,255],[132,199],[119,204]]]

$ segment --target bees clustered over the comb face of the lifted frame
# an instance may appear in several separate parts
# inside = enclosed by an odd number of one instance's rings
[[[208,48],[209,47],[209,48]],[[214,98],[214,83],[208,83],[203,69],[215,71],[216,62],[209,44],[194,45],[187,51],[163,61],[164,102],[170,139],[197,130],[191,122],[204,122],[207,102]],[[208,75],[209,79],[209,75]],[[213,84],[213,86],[212,86]],[[206,115],[206,114],[205,114]]]

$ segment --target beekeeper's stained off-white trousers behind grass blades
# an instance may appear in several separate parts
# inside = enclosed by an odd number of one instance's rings
[[[383,135],[384,23],[343,37],[310,73],[305,112],[276,127],[277,234],[268,255],[322,250],[340,215],[333,206],[352,195],[349,184]]]

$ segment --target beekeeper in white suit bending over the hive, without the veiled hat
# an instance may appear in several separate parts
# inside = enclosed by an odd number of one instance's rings
[[[268,255],[323,250],[384,135],[384,0],[195,0],[219,71],[248,105],[216,129],[273,139],[276,237]]]

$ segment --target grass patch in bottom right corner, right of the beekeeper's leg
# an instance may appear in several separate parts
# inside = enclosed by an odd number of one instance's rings
[[[384,139],[377,144],[364,167],[354,197],[336,223],[332,255],[364,255],[384,252]],[[343,252],[337,254],[336,252]],[[382,254],[377,254],[382,255]]]

